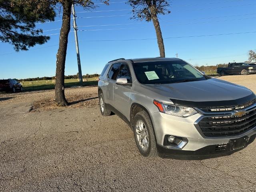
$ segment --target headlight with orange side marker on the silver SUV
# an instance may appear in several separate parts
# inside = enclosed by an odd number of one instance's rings
[[[153,103],[157,106],[160,112],[170,114],[170,115],[175,115],[179,117],[188,117],[197,113],[197,111],[191,107],[183,107],[183,106],[177,106],[172,104],[166,104],[166,103],[159,102],[157,100],[154,100]]]

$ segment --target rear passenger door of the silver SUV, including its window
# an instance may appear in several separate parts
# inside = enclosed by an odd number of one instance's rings
[[[107,104],[110,104],[111,106],[114,106],[114,85],[116,85],[116,77],[119,72],[119,68],[121,66],[121,63],[114,63],[110,67],[110,70],[107,74],[107,90],[106,95],[104,95],[104,101]]]

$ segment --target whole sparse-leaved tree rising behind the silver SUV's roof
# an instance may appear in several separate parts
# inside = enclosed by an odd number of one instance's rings
[[[161,57],[165,57],[164,52],[164,40],[162,37],[162,32],[160,24],[158,21],[159,14],[169,14],[170,10],[168,7],[170,4],[167,0],[128,0],[128,4],[132,6],[133,19],[136,20],[146,20],[147,22],[153,21],[156,38],[158,43],[158,48]]]

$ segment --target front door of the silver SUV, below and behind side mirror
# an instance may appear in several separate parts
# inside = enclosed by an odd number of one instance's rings
[[[122,63],[118,78],[127,78],[127,82],[132,82],[130,69],[126,63]],[[114,84],[114,108],[121,112],[128,120],[130,119],[129,98],[132,86]]]

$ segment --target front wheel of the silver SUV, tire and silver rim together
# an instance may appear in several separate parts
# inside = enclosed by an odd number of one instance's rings
[[[157,149],[153,126],[145,111],[135,115],[133,132],[139,152],[147,158],[156,157]]]

